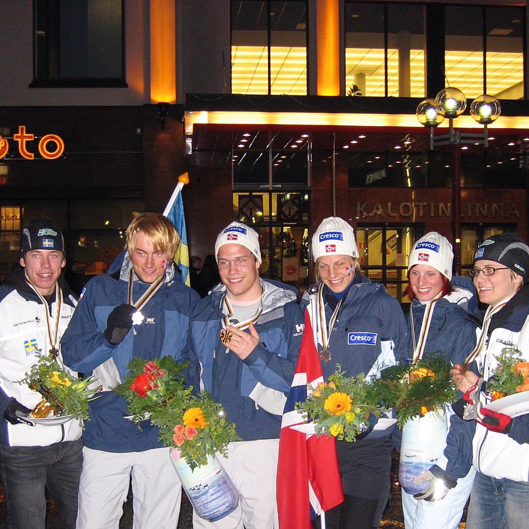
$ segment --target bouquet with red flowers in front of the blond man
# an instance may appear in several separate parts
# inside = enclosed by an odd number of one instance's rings
[[[129,375],[114,388],[129,405],[131,421],[140,424],[158,407],[166,406],[169,400],[187,399],[191,389],[186,389],[183,370],[187,363],[176,362],[172,357],[133,358],[129,363]]]

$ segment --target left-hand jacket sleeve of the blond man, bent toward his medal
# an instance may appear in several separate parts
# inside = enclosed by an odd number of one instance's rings
[[[107,342],[104,329],[98,329],[93,295],[96,288],[87,288],[62,335],[61,353],[65,364],[80,373],[88,373],[114,354],[115,345]],[[132,331],[131,331],[132,332]]]

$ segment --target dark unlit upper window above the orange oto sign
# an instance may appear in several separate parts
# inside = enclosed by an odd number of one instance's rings
[[[32,87],[126,86],[123,0],[35,0]]]

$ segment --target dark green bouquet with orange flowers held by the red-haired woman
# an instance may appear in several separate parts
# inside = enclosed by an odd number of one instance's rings
[[[441,355],[428,355],[408,366],[385,369],[372,391],[385,405],[396,408],[397,424],[402,427],[412,417],[440,411],[457,400],[450,369],[451,363]]]

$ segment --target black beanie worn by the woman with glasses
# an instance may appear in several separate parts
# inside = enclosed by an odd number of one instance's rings
[[[474,261],[496,261],[523,277],[524,283],[529,280],[529,247],[524,240],[514,233],[492,235],[483,241],[474,256]]]

